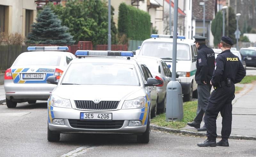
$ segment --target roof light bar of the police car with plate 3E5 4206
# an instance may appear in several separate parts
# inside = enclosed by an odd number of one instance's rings
[[[133,57],[132,51],[94,51],[94,50],[77,50],[76,56],[120,56]]]

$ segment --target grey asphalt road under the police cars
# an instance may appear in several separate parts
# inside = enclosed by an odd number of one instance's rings
[[[61,134],[47,141],[47,104],[0,105],[0,156],[255,156],[256,141],[229,140],[229,147],[197,147],[205,138],[151,131],[148,144],[132,135]]]

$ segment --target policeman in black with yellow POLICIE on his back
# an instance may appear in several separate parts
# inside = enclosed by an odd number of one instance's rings
[[[245,76],[244,67],[237,56],[231,53],[233,41],[228,36],[222,36],[220,47],[222,52],[217,56],[211,83],[214,90],[205,110],[205,125],[207,140],[198,146],[229,146],[228,137],[231,133],[232,100],[235,98],[235,83]],[[221,140],[216,143],[216,119],[222,116]]]

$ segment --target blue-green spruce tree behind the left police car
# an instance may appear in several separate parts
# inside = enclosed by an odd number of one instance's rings
[[[62,26],[60,19],[55,15],[49,6],[38,13],[36,23],[33,23],[32,30],[27,36],[26,43],[72,45],[75,41],[68,33],[68,27]]]

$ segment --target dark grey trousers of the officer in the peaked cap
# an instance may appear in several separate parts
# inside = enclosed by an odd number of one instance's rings
[[[194,124],[200,126],[203,116],[205,113],[205,108],[208,104],[208,99],[210,97],[212,86],[210,84],[197,84],[198,91],[198,103],[197,103],[197,111],[196,117],[194,119]]]

